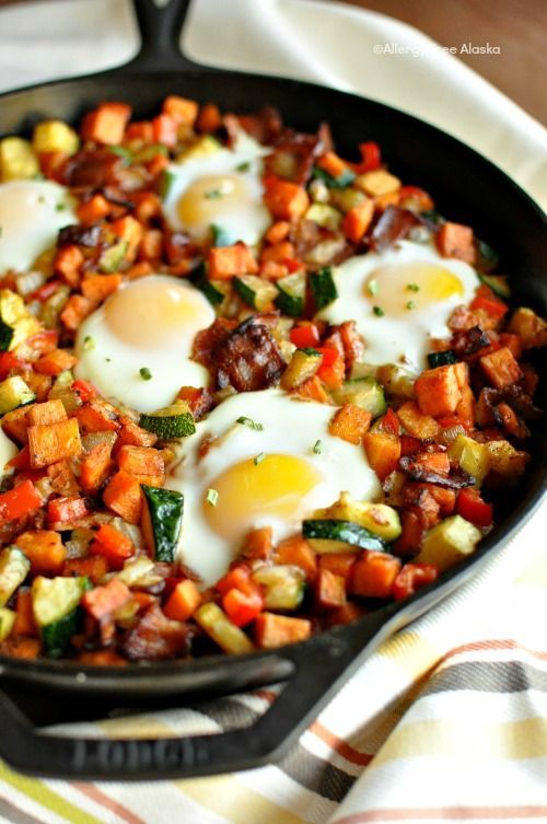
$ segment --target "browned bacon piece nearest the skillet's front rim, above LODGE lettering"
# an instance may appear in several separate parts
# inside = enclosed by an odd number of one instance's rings
[[[130,661],[164,661],[187,655],[193,630],[187,624],[167,618],[158,604],[149,606],[124,642],[123,652]]]

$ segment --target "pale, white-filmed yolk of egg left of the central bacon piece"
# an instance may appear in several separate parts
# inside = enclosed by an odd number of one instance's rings
[[[203,295],[167,278],[144,278],[115,292],[105,303],[106,325],[119,340],[142,349],[191,337],[214,320]]]

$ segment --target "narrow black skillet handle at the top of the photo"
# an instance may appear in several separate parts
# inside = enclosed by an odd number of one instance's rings
[[[189,60],[179,48],[181,31],[191,0],[167,0],[162,7],[154,0],[132,0],[132,3],[141,46],[130,62],[119,67],[121,70],[202,71],[207,68]]]

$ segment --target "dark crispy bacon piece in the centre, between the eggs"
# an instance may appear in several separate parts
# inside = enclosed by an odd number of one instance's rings
[[[272,386],[287,364],[263,320],[248,317],[213,350],[220,388],[256,392]]]

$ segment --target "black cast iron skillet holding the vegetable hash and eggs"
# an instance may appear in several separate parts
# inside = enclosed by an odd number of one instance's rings
[[[137,117],[156,112],[166,94],[216,101],[224,111],[281,109],[288,124],[315,130],[330,123],[340,153],[377,140],[396,174],[429,189],[441,212],[475,227],[501,252],[515,301],[545,313],[545,224],[537,207],[497,167],[453,138],[387,106],[278,78],[198,67],[178,49],[188,0],[164,10],[135,0],[142,35],[127,66],[91,78],[48,83],[0,98],[0,134],[27,134],[39,119],[78,123],[103,100],[131,103]],[[356,70],[357,67],[356,67]],[[70,662],[0,660],[0,756],[25,773],[63,778],[154,779],[256,767],[278,757],[379,643],[464,581],[514,535],[538,504],[545,484],[546,439],[536,432],[534,460],[523,483],[503,502],[502,523],[465,564],[400,604],[366,615],[304,643],[244,657],[218,655],[190,663],[84,668]],[[499,514],[499,513],[498,513]],[[219,735],[167,740],[68,739],[43,734],[43,723],[104,715],[113,706],[187,704],[274,682],[288,682],[253,727]],[[8,695],[10,697],[8,697]],[[15,706],[24,707],[23,712]],[[32,720],[30,720],[32,719]]]

